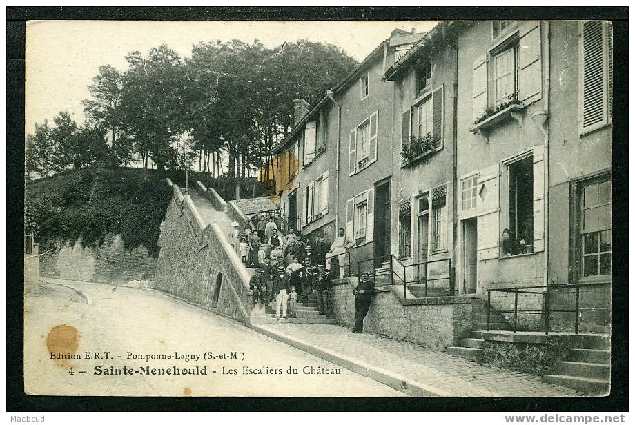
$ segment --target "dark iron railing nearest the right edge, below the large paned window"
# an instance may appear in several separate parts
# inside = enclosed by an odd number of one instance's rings
[[[558,294],[575,294],[575,308],[573,310],[563,308],[551,308],[551,289],[556,288],[572,288],[567,292],[558,292]],[[544,289],[544,290],[543,290]],[[491,293],[514,293],[514,310],[496,310],[496,313],[514,313],[514,332],[518,330],[518,315],[543,315],[543,332],[545,335],[549,333],[549,315],[551,313],[575,313],[574,319],[574,331],[577,334],[580,325],[580,286],[572,284],[551,284],[543,286],[520,286],[518,288],[497,288],[487,290],[487,330],[489,330],[490,317],[491,317]],[[543,308],[541,310],[526,309],[518,310],[518,294],[540,294],[544,295]]]

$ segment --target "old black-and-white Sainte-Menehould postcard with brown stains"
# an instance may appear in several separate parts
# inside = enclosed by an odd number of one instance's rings
[[[610,22],[28,21],[25,125],[28,395],[612,391]]]

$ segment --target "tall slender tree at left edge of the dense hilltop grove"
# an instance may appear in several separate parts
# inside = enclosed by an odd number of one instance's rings
[[[130,148],[119,146],[117,138],[121,128],[121,72],[113,66],[99,67],[99,74],[88,86],[93,99],[84,99],[84,113],[95,125],[103,126],[110,133],[110,160],[113,165],[128,164]]]

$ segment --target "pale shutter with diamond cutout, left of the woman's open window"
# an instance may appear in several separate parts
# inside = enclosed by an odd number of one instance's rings
[[[477,241],[478,260],[498,258],[500,241],[498,188],[500,184],[498,163],[478,172],[476,211],[478,214]]]

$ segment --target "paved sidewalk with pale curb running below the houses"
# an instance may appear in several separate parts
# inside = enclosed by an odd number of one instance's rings
[[[337,325],[257,324],[265,335],[308,351],[410,395],[563,397],[582,395],[540,377]]]

